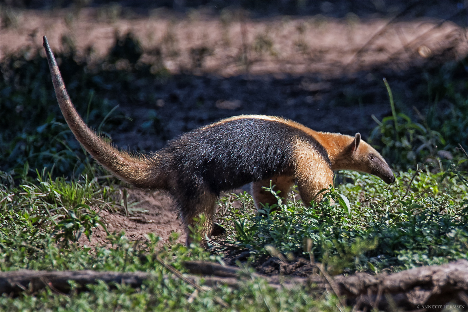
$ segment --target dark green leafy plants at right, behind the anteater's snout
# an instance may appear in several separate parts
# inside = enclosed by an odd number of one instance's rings
[[[421,97],[428,98],[425,116],[416,108],[420,123],[410,116],[398,113],[392,90],[384,79],[392,116],[379,121],[370,135],[370,141],[381,149],[382,156],[397,167],[416,168],[417,164],[440,167],[439,159],[451,160],[463,156],[458,148],[467,150],[468,98],[467,58],[458,62],[447,62],[441,67],[424,73],[427,87],[416,90]],[[458,156],[457,156],[458,154]]]

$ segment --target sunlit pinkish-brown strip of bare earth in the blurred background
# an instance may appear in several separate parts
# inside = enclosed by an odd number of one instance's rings
[[[337,77],[381,64],[395,68],[422,64],[447,49],[455,58],[467,54],[467,29],[429,18],[222,19],[200,15],[176,19],[159,12],[103,20],[97,9],[88,7],[73,15],[67,9],[24,10],[17,19],[17,27],[1,29],[0,60],[28,45],[41,46],[44,35],[53,51],[62,48],[66,36],[78,53],[91,47],[91,58],[102,58],[114,46],[116,32],[132,32],[139,39],[143,63],[162,64],[171,73],[189,70],[223,77],[243,73]]]

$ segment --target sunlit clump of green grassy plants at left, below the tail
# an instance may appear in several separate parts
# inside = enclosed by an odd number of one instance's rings
[[[51,174],[37,173],[37,181],[23,180],[15,187],[11,174],[1,172],[1,228],[2,246],[24,239],[37,245],[47,236],[56,240],[75,242],[84,233],[88,239],[93,227],[102,225],[99,209],[113,208],[113,187],[101,186],[97,179],[66,181],[52,180]],[[46,178],[47,177],[47,178]],[[9,183],[9,184],[8,184]]]

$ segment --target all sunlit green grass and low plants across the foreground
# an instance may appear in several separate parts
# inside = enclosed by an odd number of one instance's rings
[[[220,201],[220,210],[224,211],[220,220],[228,230],[227,239],[251,249],[253,258],[272,250],[308,258],[307,248],[303,247],[308,238],[314,259],[324,263],[330,274],[378,273],[384,268],[399,271],[467,259],[467,175],[457,170],[459,164],[450,165],[436,174],[400,172],[392,185],[368,174],[340,172],[337,180],[343,182],[330,189],[321,203],[305,208],[300,200],[282,202],[281,213],[264,207],[266,218],[256,216],[248,194],[231,195]],[[129,241],[124,233],[113,233],[109,236],[111,247],[79,247],[75,243],[79,234],[88,230],[91,235],[99,225],[96,211],[117,209],[112,199],[115,189],[95,179],[70,182],[45,178],[44,174],[38,174],[35,182],[25,181],[19,186],[12,182],[13,178],[3,172],[1,271],[138,270],[151,272],[155,277],[136,289],[99,283],[89,285],[85,292],[73,290],[70,295],[50,289],[19,297],[3,295],[2,311],[338,309],[335,296],[310,293],[304,288],[275,290],[253,277],[237,289],[218,286],[199,293],[190,303],[187,300],[193,287],[180,280],[163,280],[164,275],[172,273],[153,254],[159,254],[182,272],[184,260],[221,262],[219,255],[210,254],[197,244],[187,248],[171,243],[158,248],[158,238],[151,233],[143,242]],[[231,207],[234,201],[239,201],[240,209]],[[70,211],[75,211],[75,219]],[[72,225],[67,227],[69,223]],[[64,244],[62,239],[70,243]],[[249,272],[252,270],[246,274]],[[216,297],[229,307],[219,305]]]

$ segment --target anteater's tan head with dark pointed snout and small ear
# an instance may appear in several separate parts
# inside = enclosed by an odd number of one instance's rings
[[[348,138],[350,142],[347,142],[336,157],[336,167],[374,174],[388,184],[395,182],[395,176],[387,162],[371,145],[361,140],[359,133],[354,138]]]

